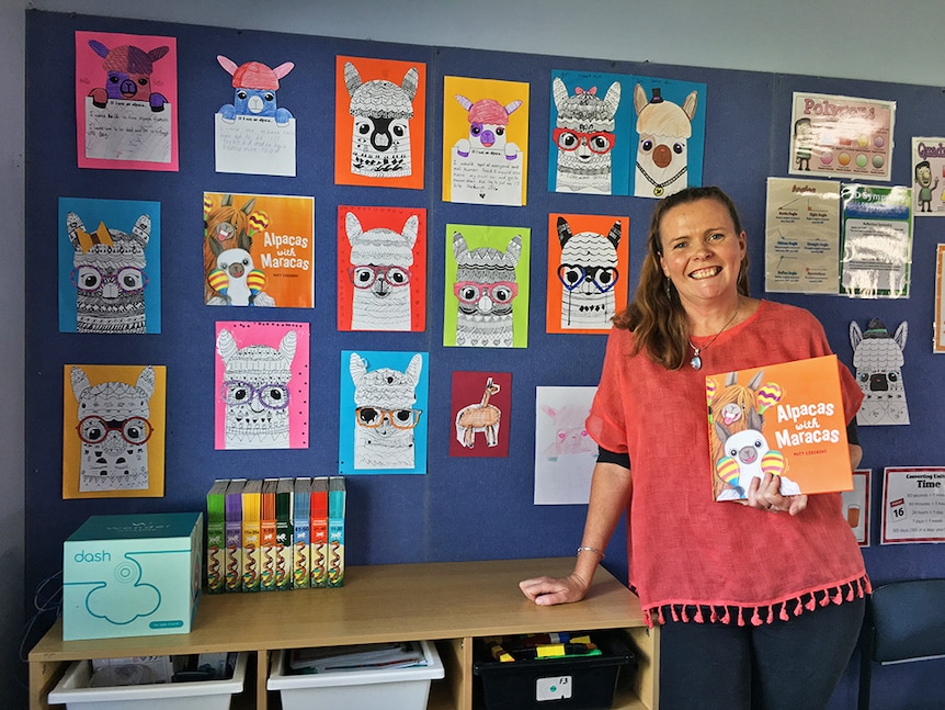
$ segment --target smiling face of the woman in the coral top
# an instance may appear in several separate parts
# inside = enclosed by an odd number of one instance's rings
[[[722,203],[706,199],[671,207],[660,223],[660,266],[683,305],[738,293],[744,232],[736,233]]]

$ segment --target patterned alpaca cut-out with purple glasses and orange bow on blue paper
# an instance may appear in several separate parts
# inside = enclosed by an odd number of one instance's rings
[[[75,212],[66,215],[72,255],[78,333],[146,333],[145,248],[151,218],[143,214],[130,233],[110,229],[104,222],[93,233]]]

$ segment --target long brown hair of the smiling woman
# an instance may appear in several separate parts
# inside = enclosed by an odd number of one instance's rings
[[[690,337],[685,312],[672,282],[660,267],[662,241],[660,227],[667,212],[698,200],[715,200],[728,210],[736,234],[742,233],[741,219],[731,198],[715,185],[686,188],[657,203],[650,221],[647,256],[640,269],[640,280],[634,300],[614,318],[615,328],[634,333],[634,354],[644,351],[667,370],[679,370],[688,359]],[[749,295],[748,250],[738,272],[738,292]]]

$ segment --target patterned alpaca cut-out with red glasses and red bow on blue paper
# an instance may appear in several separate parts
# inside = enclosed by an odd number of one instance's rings
[[[551,93],[558,119],[551,140],[558,148],[556,192],[612,193],[612,149],[616,143],[614,116],[620,103],[620,82],[614,81],[601,99],[597,88],[577,87],[568,95],[555,77]]]

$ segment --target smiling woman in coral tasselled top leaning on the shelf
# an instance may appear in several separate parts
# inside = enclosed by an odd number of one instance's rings
[[[627,512],[630,586],[661,626],[661,708],[822,708],[850,658],[869,582],[840,495],[711,495],[706,373],[830,354],[807,311],[748,293],[745,235],[718,188],[662,200],[634,302],[614,319],[587,428],[601,448],[573,573],[520,584],[583,598]],[[841,370],[850,457],[863,395]],[[631,473],[633,471],[633,473]]]

